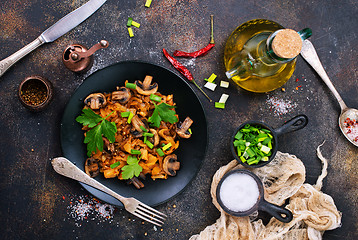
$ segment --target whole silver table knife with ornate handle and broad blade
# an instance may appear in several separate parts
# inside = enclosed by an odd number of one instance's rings
[[[90,0],[86,4],[70,12],[58,22],[44,31],[33,42],[29,43],[19,51],[0,61],[0,77],[8,70],[14,63],[25,57],[27,54],[38,48],[44,43],[55,41],[81,22],[91,16],[98,8],[100,8],[107,0]]]

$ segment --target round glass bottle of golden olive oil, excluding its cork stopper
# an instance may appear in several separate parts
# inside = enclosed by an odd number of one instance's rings
[[[279,24],[264,19],[239,26],[225,46],[228,78],[241,88],[258,93],[275,90],[286,83],[295,70],[296,58],[280,58],[271,51],[272,33],[280,29],[283,27]]]

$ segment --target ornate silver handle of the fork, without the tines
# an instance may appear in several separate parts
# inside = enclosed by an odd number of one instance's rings
[[[97,188],[98,190],[101,190],[102,192],[105,192],[119,201],[121,201],[124,205],[127,202],[127,198],[119,195],[118,193],[112,191],[108,187],[104,186],[94,178],[91,178],[88,176],[85,172],[83,172],[81,169],[79,169],[76,165],[74,165],[72,162],[70,162],[67,158],[64,157],[57,157],[52,159],[51,161],[53,169],[68,178],[72,178],[74,180],[80,181],[82,183],[85,183],[91,187]]]

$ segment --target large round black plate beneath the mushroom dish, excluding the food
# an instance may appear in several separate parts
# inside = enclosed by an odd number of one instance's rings
[[[84,106],[83,99],[94,92],[114,91],[116,86],[123,86],[125,80],[143,80],[146,75],[153,76],[153,81],[159,84],[159,92],[165,95],[174,94],[176,112],[181,121],[187,116],[194,121],[191,127],[192,137],[181,139],[179,149],[175,151],[181,168],[175,177],[166,180],[153,181],[150,177],[147,178],[144,181],[145,187],[140,190],[117,178],[105,179],[103,174],[96,177],[96,180],[125,197],[135,197],[150,206],[156,206],[180,193],[196,176],[205,156],[208,139],[205,113],[200,100],[189,84],[174,72],[150,63],[125,61],[90,75],[79,86],[65,108],[61,124],[61,146],[64,157],[84,170],[86,146],[83,143],[81,125],[75,121]],[[95,188],[86,184],[82,186],[105,202],[123,206],[115,198]]]

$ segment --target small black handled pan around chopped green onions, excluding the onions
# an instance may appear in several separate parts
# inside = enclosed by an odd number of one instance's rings
[[[271,126],[265,124],[264,122],[261,121],[247,121],[244,122],[243,124],[241,124],[234,132],[234,134],[231,137],[231,142],[230,142],[230,147],[231,147],[231,152],[232,155],[235,157],[235,159],[241,163],[243,166],[245,167],[251,167],[251,168],[259,168],[259,167],[263,167],[266,164],[268,164],[269,162],[272,161],[272,159],[274,159],[274,157],[276,156],[277,153],[277,148],[278,148],[278,141],[277,141],[277,137],[285,134],[285,133],[289,133],[289,132],[293,132],[299,129],[304,128],[308,123],[308,118],[306,115],[297,115],[296,117],[292,118],[291,120],[289,120],[288,122],[286,122],[285,124],[283,124],[281,127],[273,129]],[[234,141],[235,141],[235,135],[236,133],[245,127],[246,124],[250,124],[252,126],[261,126],[262,128],[265,128],[267,130],[269,130],[273,136],[273,141],[272,141],[272,154],[269,157],[268,161],[260,161],[257,164],[252,164],[249,165],[247,163],[244,163],[241,161],[241,159],[239,158],[239,156],[237,155],[236,149],[234,147]]]

